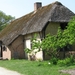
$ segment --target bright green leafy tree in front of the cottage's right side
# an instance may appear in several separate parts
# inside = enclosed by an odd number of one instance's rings
[[[65,30],[61,30],[60,28],[57,31],[56,35],[48,34],[42,42],[38,41],[36,38],[32,40],[32,49],[40,48],[45,50],[47,54],[52,55],[52,57],[56,57],[59,50],[62,48],[65,57],[65,47],[69,48],[70,45],[75,43],[75,17],[73,17]]]

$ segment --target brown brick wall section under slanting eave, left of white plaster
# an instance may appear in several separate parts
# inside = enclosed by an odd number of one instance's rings
[[[25,58],[23,36],[19,36],[8,47],[11,51],[11,58],[23,59]]]

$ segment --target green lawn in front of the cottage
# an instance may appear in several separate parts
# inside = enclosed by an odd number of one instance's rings
[[[0,66],[24,75],[69,75],[60,73],[59,70],[75,68],[75,65],[60,67],[59,65],[48,64],[48,61],[28,60],[0,60]]]

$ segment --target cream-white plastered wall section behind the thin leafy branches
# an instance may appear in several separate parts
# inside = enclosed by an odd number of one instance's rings
[[[29,34],[29,35],[25,36],[25,47],[26,48],[31,49],[31,38],[32,38],[32,36],[34,36],[34,34],[37,35],[37,40],[39,40],[41,42],[41,38],[40,38],[40,34],[39,33]],[[28,59],[30,59],[29,55],[35,54],[35,51],[37,51],[37,50],[34,50],[31,54],[29,54],[29,53],[27,54],[28,55]],[[36,60],[39,60],[39,59],[43,60],[43,52],[42,51],[37,52],[35,54],[35,57],[36,57]]]

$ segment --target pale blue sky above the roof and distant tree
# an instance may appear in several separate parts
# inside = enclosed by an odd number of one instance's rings
[[[19,18],[32,12],[35,2],[42,2],[42,6],[46,6],[55,1],[61,2],[75,13],[75,0],[0,0],[0,10],[6,15]]]

